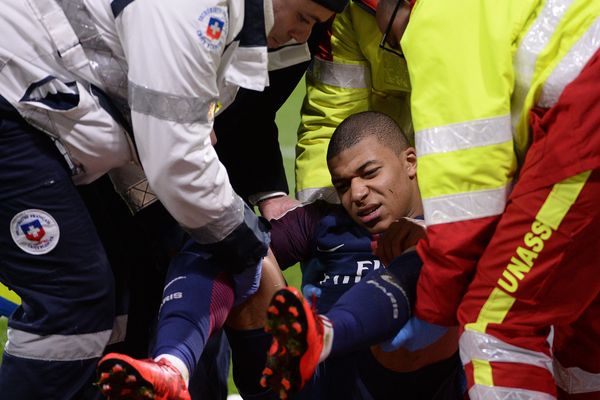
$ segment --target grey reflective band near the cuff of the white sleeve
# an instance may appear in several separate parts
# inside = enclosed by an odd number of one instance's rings
[[[244,221],[244,201],[233,194],[231,205],[219,212],[223,216],[200,228],[185,228],[198,243],[215,243],[224,239]]]

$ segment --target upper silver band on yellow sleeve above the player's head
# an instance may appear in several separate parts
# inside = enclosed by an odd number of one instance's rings
[[[314,80],[346,89],[371,87],[371,70],[364,64],[340,64],[315,57],[308,70]]]

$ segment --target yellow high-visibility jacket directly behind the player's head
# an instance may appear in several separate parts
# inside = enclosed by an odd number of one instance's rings
[[[351,1],[333,20],[306,75],[296,147],[296,196],[337,202],[325,155],[329,139],[346,117],[381,111],[412,140],[406,62],[379,48],[374,4]]]

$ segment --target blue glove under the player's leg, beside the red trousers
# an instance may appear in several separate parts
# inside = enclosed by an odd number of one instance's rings
[[[446,332],[448,328],[445,326],[411,317],[393,339],[381,343],[381,348],[383,351],[394,351],[400,347],[416,351],[435,343]]]

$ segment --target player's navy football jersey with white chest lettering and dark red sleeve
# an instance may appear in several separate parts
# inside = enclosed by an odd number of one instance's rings
[[[317,201],[272,220],[271,248],[282,269],[302,261],[302,284],[322,290],[324,313],[352,285],[382,264],[371,234],[338,204]]]

